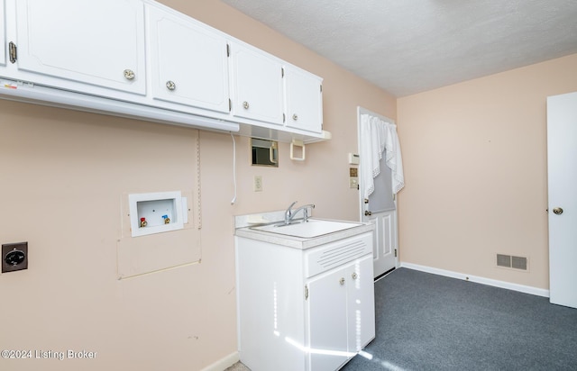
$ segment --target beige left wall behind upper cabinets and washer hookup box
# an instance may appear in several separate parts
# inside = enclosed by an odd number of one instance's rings
[[[198,370],[236,350],[233,216],[315,203],[317,216],[356,220],[347,153],[356,107],[396,118],[396,100],[221,2],[165,1],[325,78],[325,130],[307,161],[251,167],[237,140],[200,131],[201,262],[118,280],[124,193],[194,185],[196,131],[0,100],[0,241],[26,240],[29,269],[0,275],[0,348],[91,350],[93,360],[0,359],[10,370]],[[264,191],[252,192],[261,175]],[[34,356],[34,355],[32,355]]]

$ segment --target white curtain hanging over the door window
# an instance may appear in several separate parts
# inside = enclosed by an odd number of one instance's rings
[[[397,126],[384,122],[379,117],[362,114],[361,133],[362,138],[370,138],[369,143],[361,146],[363,197],[369,198],[369,195],[374,192],[373,178],[380,174],[379,162],[383,152],[387,153],[385,161],[391,169],[393,192],[397,194],[405,185]]]

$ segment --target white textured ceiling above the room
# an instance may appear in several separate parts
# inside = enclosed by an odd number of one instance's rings
[[[396,96],[577,53],[577,0],[223,2]]]

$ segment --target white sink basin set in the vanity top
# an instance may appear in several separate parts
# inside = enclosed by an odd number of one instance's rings
[[[355,222],[335,222],[321,219],[309,219],[308,222],[295,222],[293,224],[269,224],[261,227],[252,227],[255,231],[267,231],[270,233],[283,234],[285,236],[312,239],[335,231],[344,231],[349,228],[362,226]]]

